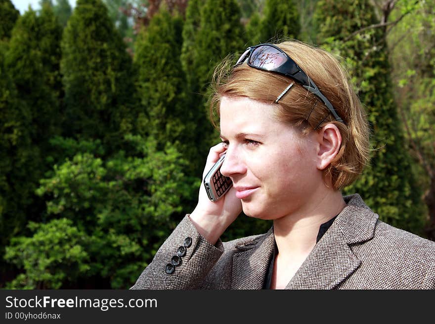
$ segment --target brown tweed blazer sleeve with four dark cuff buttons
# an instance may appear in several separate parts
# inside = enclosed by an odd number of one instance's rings
[[[210,244],[186,215],[131,289],[194,289],[223,252],[222,241]]]

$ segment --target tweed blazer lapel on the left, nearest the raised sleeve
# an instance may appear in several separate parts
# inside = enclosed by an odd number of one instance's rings
[[[273,228],[255,241],[243,242],[233,254],[231,289],[261,289],[273,254]]]

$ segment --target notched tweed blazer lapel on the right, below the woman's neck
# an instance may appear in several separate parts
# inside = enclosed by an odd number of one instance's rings
[[[351,245],[371,239],[378,216],[358,195],[345,197],[348,206],[314,246],[287,289],[332,289],[361,264]]]

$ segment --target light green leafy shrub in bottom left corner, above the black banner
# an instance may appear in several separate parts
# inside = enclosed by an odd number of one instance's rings
[[[66,218],[46,224],[30,222],[31,237],[11,240],[5,259],[25,270],[6,288],[58,289],[89,270],[89,237]]]

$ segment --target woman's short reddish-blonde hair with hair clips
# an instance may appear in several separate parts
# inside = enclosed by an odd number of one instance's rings
[[[370,147],[365,112],[348,73],[332,54],[320,48],[300,41],[284,41],[276,46],[285,51],[313,80],[345,124],[336,121],[318,97],[297,82],[275,104],[276,98],[294,80],[246,64],[232,68],[231,57],[227,57],[215,70],[212,83],[214,94],[210,105],[212,122],[216,126],[215,119],[219,115],[222,97],[248,97],[276,105],[277,120],[297,126],[304,135],[322,128],[326,123],[334,123],[340,130],[342,144],[335,159],[324,170],[324,175],[331,180],[335,189],[341,190],[362,173],[369,160]]]

